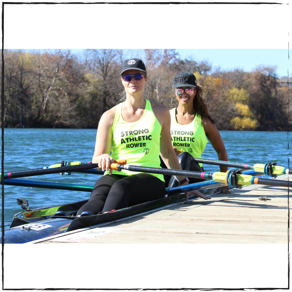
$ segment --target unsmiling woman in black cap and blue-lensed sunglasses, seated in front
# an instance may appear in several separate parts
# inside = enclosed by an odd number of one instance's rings
[[[95,183],[89,201],[79,209],[77,216],[114,211],[165,196],[163,175],[109,169],[114,160],[126,159],[131,165],[160,167],[160,152],[167,168],[181,169],[171,144],[167,107],[143,97],[147,82],[144,63],[140,59],[126,60],[120,75],[126,100],[100,118],[92,159],[106,172]],[[181,185],[188,184],[185,177],[177,179]],[[193,193],[210,199],[199,191]],[[189,194],[186,193],[186,200]]]

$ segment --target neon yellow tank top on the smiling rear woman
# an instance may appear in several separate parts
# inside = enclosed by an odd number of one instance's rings
[[[170,112],[171,116],[171,140],[177,150],[189,152],[194,158],[201,158],[208,140],[202,125],[201,116],[196,113],[193,121],[187,125],[180,125],[175,118],[176,108]],[[203,164],[199,163],[202,167]]]

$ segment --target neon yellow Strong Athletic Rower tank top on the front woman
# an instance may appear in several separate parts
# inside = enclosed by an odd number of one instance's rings
[[[156,119],[149,100],[142,118],[128,123],[124,121],[121,110],[124,102],[117,107],[112,125],[112,154],[115,160],[126,159],[127,164],[160,168],[160,133],[161,125]],[[109,172],[105,172],[108,174]],[[113,174],[132,175],[139,172],[112,171]],[[150,173],[164,182],[162,174]]]

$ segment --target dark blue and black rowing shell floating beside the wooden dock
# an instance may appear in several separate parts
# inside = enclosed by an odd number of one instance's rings
[[[217,187],[218,183],[215,184]],[[197,196],[192,194],[189,196],[189,199],[195,197]],[[74,215],[76,215],[79,209],[77,207],[81,207],[88,200],[78,201],[67,205],[38,208],[35,210],[20,212],[14,216],[10,228],[4,230],[4,243],[27,243],[37,239],[62,234],[64,232],[86,228],[100,223],[106,223],[120,218],[136,215],[184,200],[185,194],[179,194],[116,210],[114,212],[86,217],[76,217]],[[72,214],[73,216],[53,216],[53,214],[59,210],[67,210],[66,213],[69,215]],[[24,222],[25,224],[23,224]],[[22,225],[18,225],[21,223]]]

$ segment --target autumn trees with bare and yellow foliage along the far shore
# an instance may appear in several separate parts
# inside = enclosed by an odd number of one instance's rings
[[[141,58],[148,81],[146,98],[169,109],[178,106],[173,78],[193,72],[219,130],[291,130],[291,87],[279,86],[274,67],[215,70],[208,62],[182,60],[173,49],[145,49],[127,57],[123,50],[24,52],[4,50],[4,126],[97,128],[101,115],[121,102],[122,63]],[[1,60],[2,66],[2,60]],[[1,93],[2,94],[2,93]],[[291,116],[291,115],[290,115]]]

